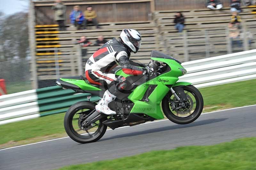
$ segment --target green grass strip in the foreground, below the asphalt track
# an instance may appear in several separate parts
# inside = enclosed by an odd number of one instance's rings
[[[252,170],[256,168],[256,138],[212,146],[186,146],[169,151],[63,167],[60,170]]]

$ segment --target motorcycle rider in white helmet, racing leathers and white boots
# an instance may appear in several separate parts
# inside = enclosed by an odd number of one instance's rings
[[[131,52],[138,52],[141,44],[141,35],[137,30],[124,29],[120,34],[120,41],[116,38],[105,43],[99,50],[92,54],[85,65],[85,75],[92,84],[103,85],[104,81],[110,88],[105,91],[103,98],[95,106],[96,111],[105,114],[116,114],[108,104],[116,99],[127,87],[128,82],[123,76],[109,73],[117,65],[122,67],[126,74],[141,75],[152,74],[153,68],[149,69],[144,64],[129,60]],[[140,67],[144,68],[140,68]]]

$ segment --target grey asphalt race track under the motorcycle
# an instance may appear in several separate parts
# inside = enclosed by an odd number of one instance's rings
[[[0,150],[0,169],[55,169],[185,145],[209,145],[256,136],[256,105],[202,114],[195,122],[169,120],[108,130],[98,142],[70,138]]]

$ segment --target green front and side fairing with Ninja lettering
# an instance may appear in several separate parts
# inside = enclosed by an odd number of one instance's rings
[[[138,86],[128,96],[128,98],[134,103],[131,113],[144,113],[155,119],[164,119],[163,113],[160,108],[160,103],[165,95],[170,91],[170,88],[166,85],[174,85],[179,80],[178,77],[182,76],[182,72],[179,68],[183,68],[179,63],[171,59],[165,58],[151,58],[156,61],[162,61],[171,67],[171,71],[161,74],[154,79],[145,82]],[[182,84],[181,82],[178,84]],[[186,83],[185,83],[186,84]],[[156,89],[148,97],[149,101],[140,101],[146,93],[149,85],[157,85]]]

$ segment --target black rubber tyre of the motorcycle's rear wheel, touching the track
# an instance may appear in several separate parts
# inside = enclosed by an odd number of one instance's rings
[[[103,118],[100,121],[101,126],[97,129],[97,133],[93,133],[90,137],[83,137],[83,135],[80,135],[78,133],[76,133],[76,131],[73,128],[72,125],[72,119],[73,116],[76,114],[77,110],[83,108],[83,109],[90,109],[90,110],[94,110],[95,109],[95,103],[91,103],[88,101],[81,101],[81,102],[77,102],[75,104],[73,104],[72,106],[70,106],[70,108],[68,109],[68,111],[65,114],[64,117],[64,128],[68,134],[68,136],[73,139],[74,141],[78,142],[78,143],[91,143],[91,142],[96,142],[98,141],[106,132],[107,130],[107,126],[102,124],[103,121],[107,120],[107,118]]]

